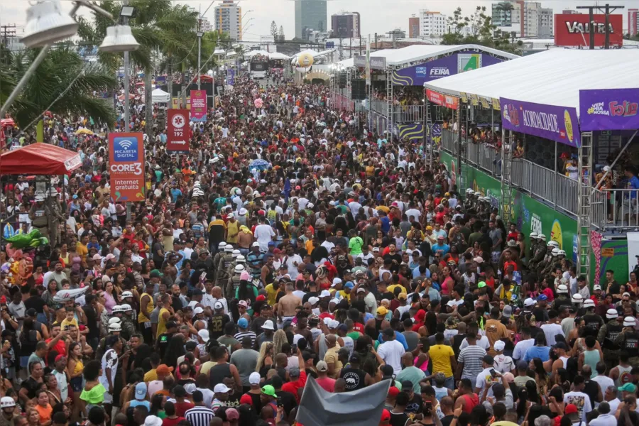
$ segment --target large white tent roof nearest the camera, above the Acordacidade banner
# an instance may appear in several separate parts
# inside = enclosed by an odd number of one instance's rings
[[[574,107],[579,90],[639,87],[636,50],[550,49],[425,84],[427,89],[459,97],[500,97],[522,102]]]

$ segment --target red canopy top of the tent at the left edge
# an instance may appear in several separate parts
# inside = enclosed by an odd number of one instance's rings
[[[0,175],[65,175],[80,165],[78,153],[48,143],[33,143],[2,154]]]

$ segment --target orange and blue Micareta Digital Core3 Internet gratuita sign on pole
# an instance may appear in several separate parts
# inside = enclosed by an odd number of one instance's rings
[[[109,133],[109,185],[115,201],[144,201],[142,133]]]

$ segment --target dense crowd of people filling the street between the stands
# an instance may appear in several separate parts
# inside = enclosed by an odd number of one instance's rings
[[[59,232],[0,253],[0,426],[294,425],[310,377],[389,381],[371,425],[639,424],[636,275],[590,288],[327,87],[237,76],[190,151],[155,128],[129,216],[78,126],[64,193],[6,187]]]

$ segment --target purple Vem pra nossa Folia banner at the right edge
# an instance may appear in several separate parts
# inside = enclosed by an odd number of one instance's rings
[[[639,129],[639,89],[579,90],[579,129]]]

